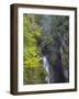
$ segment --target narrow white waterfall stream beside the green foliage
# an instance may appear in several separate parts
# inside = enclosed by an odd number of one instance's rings
[[[47,73],[46,81],[47,81],[47,84],[49,84],[49,64],[48,64],[48,61],[47,61],[46,56],[43,57],[43,64],[44,64],[43,66],[46,70],[46,73]]]

